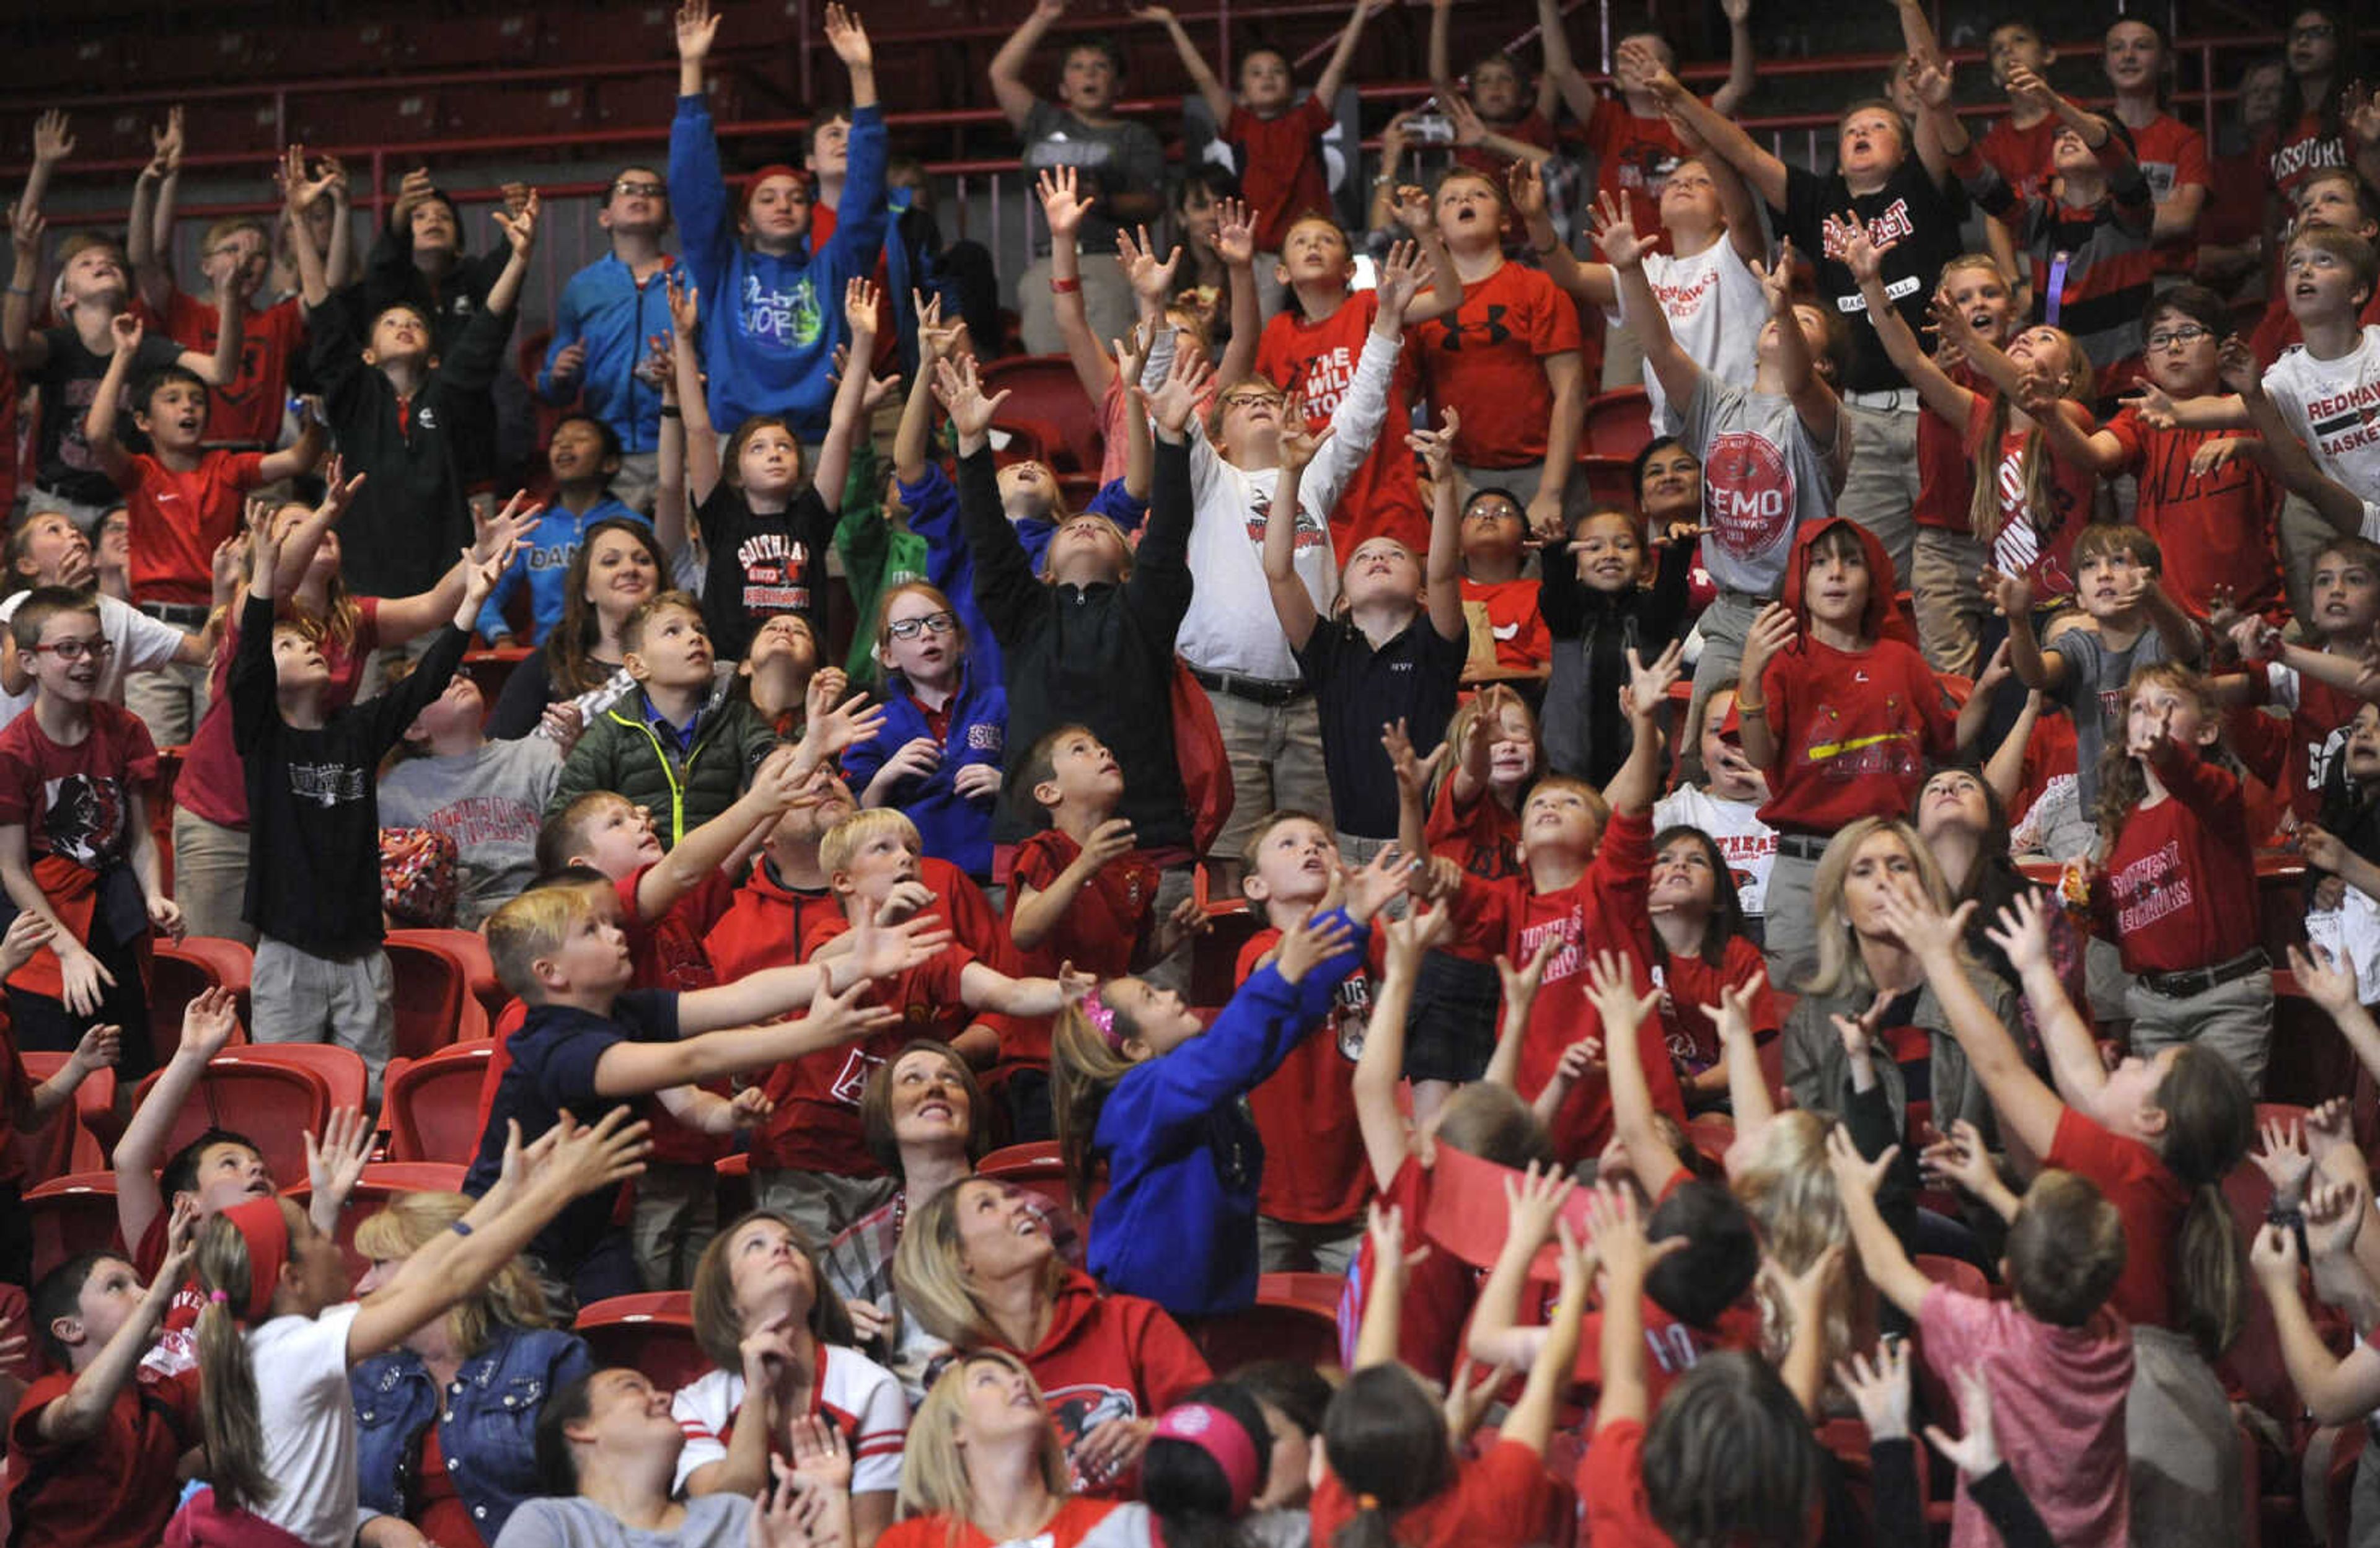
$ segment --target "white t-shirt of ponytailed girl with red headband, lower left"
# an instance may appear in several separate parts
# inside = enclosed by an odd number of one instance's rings
[[[355,1543],[355,1398],[347,1329],[357,1303],[274,1317],[248,1332],[264,1420],[264,1477],[278,1493],[255,1515],[314,1548]]]

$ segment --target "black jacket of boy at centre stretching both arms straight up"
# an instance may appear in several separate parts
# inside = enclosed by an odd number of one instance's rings
[[[1157,442],[1150,523],[1121,585],[1045,585],[1000,506],[990,449],[959,459],[959,528],[976,556],[976,606],[1000,640],[1016,761],[1059,725],[1088,725],[1123,766],[1140,849],[1190,842],[1173,754],[1173,635],[1190,611],[1190,447]],[[1000,792],[992,839],[1042,828],[1031,789]]]

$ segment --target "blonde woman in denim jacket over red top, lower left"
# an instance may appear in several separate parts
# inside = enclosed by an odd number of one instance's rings
[[[371,1260],[359,1296],[414,1253],[455,1234],[462,1194],[402,1194],[355,1229]],[[478,1291],[386,1355],[347,1372],[355,1396],[357,1548],[486,1548],[512,1510],[543,1493],[536,1429],[543,1393],[595,1370],[588,1346],[552,1327],[545,1291],[514,1258]],[[447,1467],[447,1458],[462,1467]]]

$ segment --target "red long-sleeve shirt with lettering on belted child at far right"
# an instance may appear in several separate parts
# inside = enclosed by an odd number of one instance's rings
[[[2256,835],[2240,780],[2182,747],[2156,770],[2106,856],[2106,906],[2125,973],[2187,973],[2256,944]]]

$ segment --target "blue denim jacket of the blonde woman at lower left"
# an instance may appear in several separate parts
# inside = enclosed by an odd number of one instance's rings
[[[447,1479],[493,1543],[521,1500],[545,1493],[538,1479],[538,1412],[562,1386],[595,1370],[576,1334],[550,1327],[488,1329],[488,1348],[462,1363],[443,1405],[428,1367],[409,1348],[374,1355],[347,1372],[355,1396],[357,1524],[405,1515],[421,1467],[421,1436],[438,1424]]]

